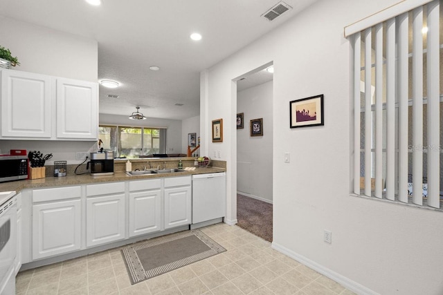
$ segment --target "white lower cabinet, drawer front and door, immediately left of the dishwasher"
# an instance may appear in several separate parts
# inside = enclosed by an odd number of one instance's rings
[[[192,223],[191,178],[165,178],[165,229]]]

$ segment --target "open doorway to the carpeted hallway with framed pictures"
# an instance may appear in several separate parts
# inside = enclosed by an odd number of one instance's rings
[[[272,241],[272,63],[237,80],[237,225]]]

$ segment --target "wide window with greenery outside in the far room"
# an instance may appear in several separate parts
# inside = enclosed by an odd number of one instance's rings
[[[128,126],[99,126],[103,148],[114,151],[116,158],[165,153],[166,129]]]

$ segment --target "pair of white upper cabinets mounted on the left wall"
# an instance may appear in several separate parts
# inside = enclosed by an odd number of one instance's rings
[[[97,139],[97,83],[18,70],[0,75],[1,139]]]

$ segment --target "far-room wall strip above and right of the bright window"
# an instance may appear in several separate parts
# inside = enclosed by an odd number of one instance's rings
[[[129,114],[128,114],[129,116]],[[163,127],[166,131],[166,152],[181,153],[181,120],[147,118],[142,122],[128,119],[127,116],[100,114],[99,124],[111,124],[136,127]]]

